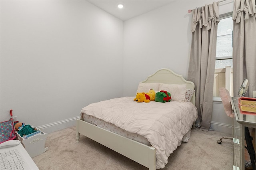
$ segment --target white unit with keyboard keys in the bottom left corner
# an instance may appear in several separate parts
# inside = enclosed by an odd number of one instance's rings
[[[19,140],[6,142],[0,144],[0,170],[38,170]]]

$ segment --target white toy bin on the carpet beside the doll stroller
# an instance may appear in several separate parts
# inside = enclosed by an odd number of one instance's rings
[[[20,140],[31,158],[38,156],[48,150],[48,147],[44,148],[45,140],[48,136],[48,133],[44,133],[41,131],[40,133],[35,134],[34,136],[30,136],[28,138],[21,137],[18,132],[16,132],[16,134],[18,136],[18,140]]]

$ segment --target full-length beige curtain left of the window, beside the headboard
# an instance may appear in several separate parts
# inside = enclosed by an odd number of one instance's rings
[[[196,126],[207,131],[212,119],[212,94],[219,22],[218,2],[193,10],[188,80],[195,83],[196,107],[198,109]]]

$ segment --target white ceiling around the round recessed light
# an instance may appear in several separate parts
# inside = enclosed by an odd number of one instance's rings
[[[88,2],[125,21],[170,4],[173,0],[88,0]],[[123,4],[124,8],[119,9],[118,4]]]

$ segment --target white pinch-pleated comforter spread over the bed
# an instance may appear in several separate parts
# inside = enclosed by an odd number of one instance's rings
[[[133,99],[122,97],[92,103],[81,114],[144,136],[156,148],[156,168],[164,168],[170,154],[180,146],[182,137],[196,121],[197,109],[191,102],[137,103]]]

